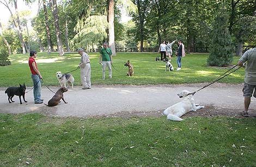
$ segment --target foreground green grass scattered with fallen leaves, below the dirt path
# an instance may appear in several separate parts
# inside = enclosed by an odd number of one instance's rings
[[[0,114],[0,127],[0,166],[256,165],[253,118]]]

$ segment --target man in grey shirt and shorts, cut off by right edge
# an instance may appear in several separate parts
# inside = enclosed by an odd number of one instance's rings
[[[246,61],[247,65],[245,65]],[[251,103],[252,95],[256,98],[256,47],[246,51],[239,59],[237,65],[245,67],[245,84],[243,85],[245,110],[243,110],[241,114],[248,117],[248,108]]]

